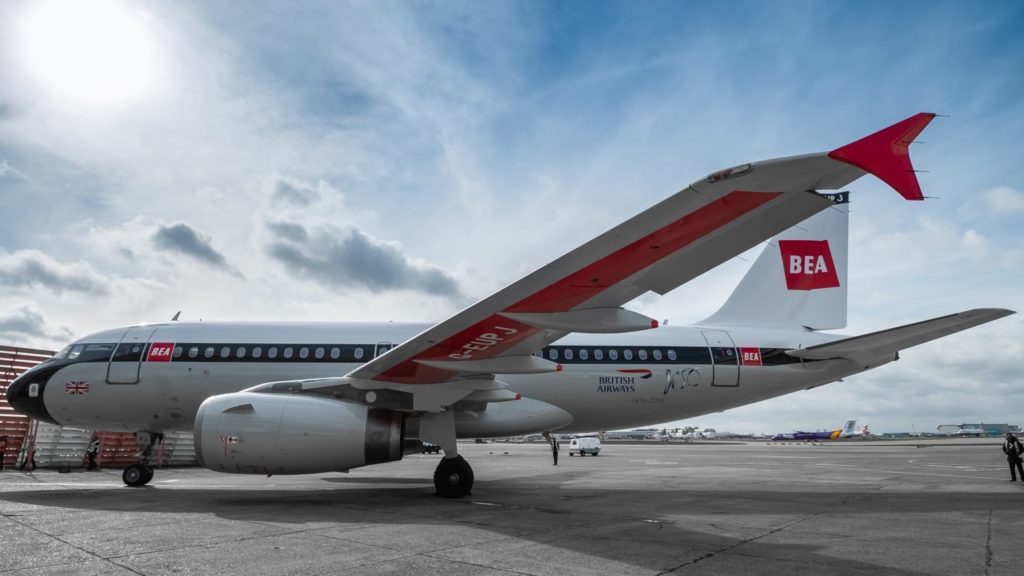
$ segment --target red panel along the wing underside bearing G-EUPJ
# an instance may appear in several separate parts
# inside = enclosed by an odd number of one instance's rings
[[[503,312],[570,311],[597,296],[603,290],[770,202],[781,194],[780,192],[731,192],[580,269],[550,286],[542,288]],[[510,330],[514,330],[514,332],[510,332]],[[416,357],[395,365],[374,379],[407,384],[443,382],[454,372],[417,364],[415,359],[456,361],[494,358],[539,331],[532,326],[514,322],[496,314],[416,355]],[[464,358],[467,356],[469,358]]]

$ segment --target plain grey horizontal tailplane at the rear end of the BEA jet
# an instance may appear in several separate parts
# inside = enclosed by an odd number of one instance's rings
[[[857,362],[869,362],[876,358],[890,356],[901,349],[948,336],[1011,314],[1014,312],[1004,308],[970,310],[862,336],[844,338],[806,348],[791,349],[786,351],[785,354],[805,360],[847,358]]]

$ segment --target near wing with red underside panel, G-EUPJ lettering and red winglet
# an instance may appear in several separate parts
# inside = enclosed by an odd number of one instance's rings
[[[817,193],[870,172],[921,200],[907,147],[922,113],[831,152],[742,164],[697,180],[347,375],[429,384],[557,370],[529,356],[568,332],[625,332],[656,322],[620,306],[665,294],[827,208]],[[462,376],[460,376],[462,375]]]

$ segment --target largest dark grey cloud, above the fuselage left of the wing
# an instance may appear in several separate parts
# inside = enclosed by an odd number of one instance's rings
[[[356,228],[325,227],[310,234],[291,222],[267,223],[276,236],[266,253],[292,273],[329,287],[414,290],[461,298],[458,284],[441,270],[412,262],[397,244],[381,242]]]

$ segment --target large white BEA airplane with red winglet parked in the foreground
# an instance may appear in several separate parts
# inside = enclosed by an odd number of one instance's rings
[[[720,170],[433,325],[170,322],[78,339],[27,371],[10,405],[41,421],[136,434],[129,486],[168,430],[232,474],[314,474],[440,446],[439,496],[470,494],[457,439],[693,418],[837,381],[1013,311],[978,308],[853,337],[850,194],[870,173],[923,200],[921,113],[852,143]],[[821,191],[839,191],[824,193]],[[722,307],[662,326],[623,306],[769,242]]]

